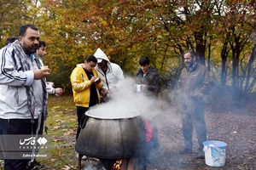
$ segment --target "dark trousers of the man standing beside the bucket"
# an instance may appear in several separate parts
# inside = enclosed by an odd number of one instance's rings
[[[205,104],[191,101],[189,105],[182,105],[181,116],[183,123],[183,137],[186,148],[192,149],[193,125],[199,144],[199,150],[203,149],[203,142],[207,141],[207,126],[205,122]],[[191,104],[191,105],[190,105]]]

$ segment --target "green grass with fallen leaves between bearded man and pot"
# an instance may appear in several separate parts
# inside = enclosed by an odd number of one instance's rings
[[[49,96],[48,115],[45,124],[51,138],[51,158],[37,161],[53,170],[77,169],[74,146],[78,123],[73,96]]]

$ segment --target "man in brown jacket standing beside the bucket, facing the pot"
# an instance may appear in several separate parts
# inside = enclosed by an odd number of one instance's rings
[[[196,62],[194,51],[184,52],[183,59],[186,67],[181,72],[177,86],[180,93],[184,137],[184,148],[179,150],[179,153],[192,153],[194,126],[199,144],[199,158],[204,158],[203,142],[207,140],[205,104],[210,88],[210,73],[205,65]]]

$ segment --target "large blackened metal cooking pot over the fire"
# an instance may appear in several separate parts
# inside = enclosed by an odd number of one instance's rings
[[[83,156],[121,159],[139,156],[145,151],[143,120],[137,111],[102,113],[87,111],[75,150]]]

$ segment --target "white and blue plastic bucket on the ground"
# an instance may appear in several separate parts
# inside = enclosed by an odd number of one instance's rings
[[[206,141],[203,144],[206,164],[211,167],[224,166],[227,144],[221,141]]]

